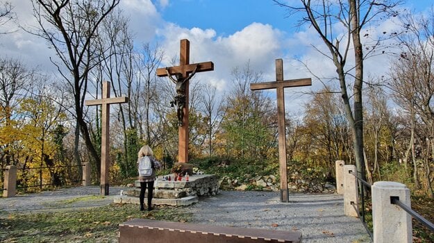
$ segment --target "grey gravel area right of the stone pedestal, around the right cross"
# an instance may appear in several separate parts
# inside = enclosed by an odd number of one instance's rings
[[[290,194],[282,203],[278,192],[223,191],[189,209],[193,223],[300,231],[302,242],[371,242],[360,219],[344,216],[337,194]]]

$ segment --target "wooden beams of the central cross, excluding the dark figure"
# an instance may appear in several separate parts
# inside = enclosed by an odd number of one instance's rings
[[[190,42],[187,39],[181,40],[181,51],[179,56],[179,66],[159,68],[157,76],[164,77],[167,73],[170,75],[182,74],[182,78],[187,78],[194,72],[207,72],[214,70],[214,63],[199,62],[190,64]],[[182,124],[178,127],[178,162],[188,162],[188,87],[189,81],[185,82],[185,106],[183,108],[184,116]]]

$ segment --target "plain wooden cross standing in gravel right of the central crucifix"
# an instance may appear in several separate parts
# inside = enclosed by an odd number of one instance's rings
[[[250,84],[250,90],[276,89],[277,91],[278,160],[281,175],[281,201],[283,202],[289,202],[286,165],[285,95],[283,90],[285,87],[309,85],[312,85],[312,79],[310,78],[283,80],[282,59],[276,59],[276,81]]]

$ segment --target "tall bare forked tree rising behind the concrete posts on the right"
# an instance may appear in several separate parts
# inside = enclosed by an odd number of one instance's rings
[[[328,49],[328,54],[320,51],[326,58],[333,61],[336,67],[337,81],[340,83],[340,93],[344,103],[345,114],[353,132],[353,148],[356,157],[358,173],[365,177],[363,164],[363,107],[362,86],[364,53],[361,33],[362,29],[379,15],[387,15],[397,5],[393,0],[300,0],[297,3],[284,3],[273,0],[279,6],[288,10],[290,15],[303,15],[300,25],[308,24],[315,29]],[[341,24],[343,33],[335,33],[335,24]],[[372,48],[373,49],[373,48]],[[354,66],[348,66],[349,55],[354,58]],[[353,92],[349,92],[349,83],[353,82]],[[353,101],[351,107],[350,101]]]

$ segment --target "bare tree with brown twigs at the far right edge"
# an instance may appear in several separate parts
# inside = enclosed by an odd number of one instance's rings
[[[409,150],[412,150],[414,171],[413,176],[416,187],[419,187],[417,175],[417,162],[415,152],[415,135],[420,137],[425,147],[425,178],[428,192],[434,197],[433,187],[431,186],[431,165],[434,158],[434,12],[431,10],[429,17],[412,15],[408,13],[403,17],[406,35],[398,37],[401,43],[401,55],[399,60],[394,62],[390,76],[390,87],[394,91],[394,99],[404,109],[412,115],[411,137]],[[423,125],[415,134],[416,119],[419,126]],[[430,151],[430,147],[432,146]],[[407,153],[408,154],[408,153]],[[429,159],[431,154],[432,158]],[[407,156],[406,156],[407,157]]]

